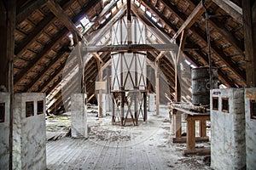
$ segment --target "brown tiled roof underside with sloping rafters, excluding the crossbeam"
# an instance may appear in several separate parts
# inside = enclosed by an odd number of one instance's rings
[[[74,82],[79,81],[78,61],[72,52],[71,32],[60,18],[56,17],[48,3],[60,5],[64,14],[82,32],[87,42],[93,45],[110,44],[110,27],[116,20],[125,16],[125,0],[55,0],[55,1],[19,1],[17,6],[15,29],[15,92],[42,92],[48,96],[49,111],[63,110],[68,99],[61,93],[65,86],[69,95],[77,89]],[[227,87],[246,86],[246,60],[244,58],[243,25],[241,22],[241,4],[233,1],[236,14],[230,15],[218,0],[208,4],[210,14],[209,30],[211,37],[212,65],[218,67],[218,81]],[[198,9],[198,10],[197,10]],[[195,14],[197,10],[197,15]],[[200,0],[131,0],[131,14],[137,16],[148,26],[147,40],[151,43],[169,43],[176,33],[183,31],[192,16],[189,29],[185,29],[186,38],[183,55],[191,65],[207,66],[207,26],[205,9]],[[195,14],[195,15],[193,15]],[[86,17],[87,23],[81,23]],[[187,25],[188,26],[188,25]],[[176,38],[179,44],[181,34]],[[91,102],[96,101],[95,81],[98,75],[98,60],[101,60],[106,72],[110,52],[83,54],[88,60],[84,69],[86,92]],[[72,57],[71,57],[72,56]],[[148,59],[154,60],[160,51],[149,51]],[[160,70],[166,79],[161,84],[163,94],[174,92],[174,68],[168,54],[160,59]],[[105,66],[104,66],[105,65]],[[148,66],[148,72],[152,67]],[[68,77],[63,77],[63,71]],[[154,77],[154,71],[151,75]]]

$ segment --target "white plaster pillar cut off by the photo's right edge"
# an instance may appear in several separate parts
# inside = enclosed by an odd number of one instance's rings
[[[256,88],[245,88],[247,169],[256,169],[256,119],[251,119],[250,99],[256,100]]]

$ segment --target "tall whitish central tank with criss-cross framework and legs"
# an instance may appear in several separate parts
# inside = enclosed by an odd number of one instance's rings
[[[119,20],[111,31],[113,45],[146,42],[146,27],[134,16]],[[128,121],[137,125],[141,113],[143,121],[147,120],[146,59],[145,52],[131,53],[128,50],[111,54],[113,123],[119,119],[121,126],[125,126]]]

